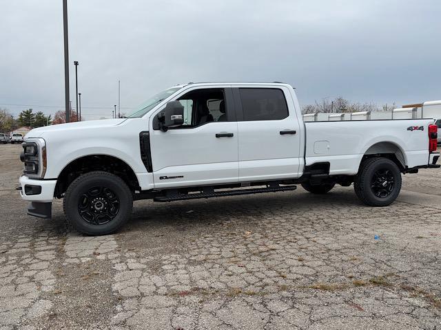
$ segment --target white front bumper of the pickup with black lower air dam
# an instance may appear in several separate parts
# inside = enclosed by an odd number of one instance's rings
[[[57,180],[36,180],[22,175],[19,182],[21,198],[30,201],[28,214],[50,219],[52,217],[52,199],[54,198]]]

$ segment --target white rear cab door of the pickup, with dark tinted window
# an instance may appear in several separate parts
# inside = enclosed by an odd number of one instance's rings
[[[238,117],[239,181],[296,178],[300,126],[284,86],[233,89]]]

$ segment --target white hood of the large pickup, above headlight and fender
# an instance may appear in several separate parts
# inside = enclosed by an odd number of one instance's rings
[[[116,119],[103,119],[103,120],[88,120],[85,122],[69,122],[67,124],[57,124],[51,126],[43,126],[38,129],[32,129],[25,138],[28,137],[42,137],[45,133],[60,132],[61,131],[73,131],[78,130],[81,133],[83,129],[98,129],[102,127],[116,126],[124,122],[127,118],[116,118]]]

